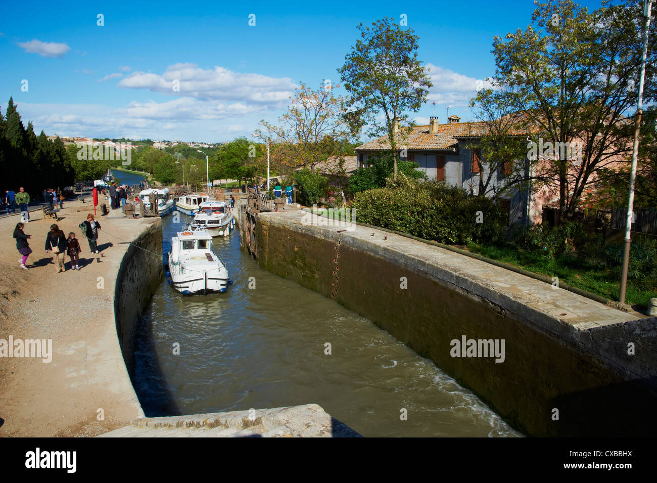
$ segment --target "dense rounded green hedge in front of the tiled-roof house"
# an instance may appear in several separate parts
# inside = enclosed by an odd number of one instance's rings
[[[491,199],[443,182],[407,180],[363,191],[351,206],[359,222],[445,244],[499,242],[507,229],[507,217]]]

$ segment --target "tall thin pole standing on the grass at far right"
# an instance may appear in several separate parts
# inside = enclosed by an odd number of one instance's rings
[[[650,29],[650,11],[652,0],[645,0],[643,16],[643,54],[641,55],[641,77],[639,78],[639,101],[635,114],[634,147],[632,149],[632,168],[629,172],[629,197],[627,200],[627,219],[625,220],[625,251],[623,252],[623,267],[620,278],[620,293],[618,302],[625,303],[625,289],[627,288],[627,266],[629,265],[629,248],[631,244],[632,218],[634,216],[634,185],[637,179],[637,157],[639,156],[639,131],[641,130],[641,114],[643,104],[643,81],[646,75],[646,57],[648,57],[648,30]]]

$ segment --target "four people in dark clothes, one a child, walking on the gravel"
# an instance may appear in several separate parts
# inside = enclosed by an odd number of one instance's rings
[[[24,223],[16,224],[16,227],[14,228],[14,238],[16,239],[16,248],[21,256],[18,263],[20,263],[21,268],[27,270],[28,256],[32,253],[28,239],[31,239],[32,235],[27,235],[23,231],[24,227]],[[99,253],[98,234],[101,230],[101,223],[96,221],[95,217],[89,213],[87,219],[80,223],[79,227],[82,230],[82,234],[89,242],[89,250],[91,250],[91,253]],[[64,255],[68,255],[71,259],[71,269],[80,269],[79,254],[81,253],[81,248],[79,241],[76,238],[76,234],[73,231],[68,233],[68,237],[66,237],[58,225],[55,223],[50,225],[50,231],[45,237],[45,252],[52,254],[57,273],[66,271],[66,267],[64,267]]]

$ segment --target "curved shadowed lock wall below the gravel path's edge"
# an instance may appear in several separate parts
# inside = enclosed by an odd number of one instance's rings
[[[141,248],[137,248],[137,245]],[[146,251],[148,250],[148,251]],[[128,373],[133,373],[135,336],[139,319],[152,294],[164,279],[162,256],[162,220],[148,225],[133,240],[119,267],[114,290],[116,333]]]

